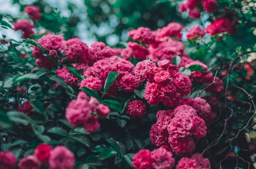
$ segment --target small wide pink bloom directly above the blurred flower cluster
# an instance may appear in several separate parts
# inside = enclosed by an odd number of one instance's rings
[[[89,87],[95,91],[99,91],[102,87],[101,81],[98,78],[94,78],[92,76],[83,79],[80,82],[80,88]]]

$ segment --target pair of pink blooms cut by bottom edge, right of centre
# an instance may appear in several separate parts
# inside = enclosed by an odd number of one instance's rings
[[[133,157],[135,169],[168,169],[173,168],[174,165],[173,152],[167,146],[162,146],[152,152],[143,149]]]

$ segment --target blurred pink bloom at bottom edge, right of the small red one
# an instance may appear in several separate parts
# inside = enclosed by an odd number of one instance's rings
[[[50,169],[72,169],[75,164],[74,154],[64,146],[55,147],[49,159]]]

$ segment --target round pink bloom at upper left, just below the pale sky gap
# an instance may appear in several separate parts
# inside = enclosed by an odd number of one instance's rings
[[[89,47],[79,38],[69,39],[66,42],[66,57],[69,61],[88,63],[90,59]]]

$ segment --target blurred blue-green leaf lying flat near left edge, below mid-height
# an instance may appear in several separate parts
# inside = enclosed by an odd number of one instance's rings
[[[7,112],[7,115],[12,122],[20,123],[25,126],[32,122],[31,118],[23,112],[9,111]]]

